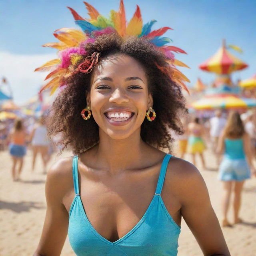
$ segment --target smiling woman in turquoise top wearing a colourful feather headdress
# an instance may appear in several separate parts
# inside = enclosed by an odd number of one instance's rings
[[[34,256],[60,255],[67,233],[78,256],[176,256],[182,216],[204,255],[229,256],[200,172],[170,154],[168,130],[182,133],[188,112],[187,78],[174,65],[184,64],[170,52],[182,50],[160,38],[170,28],[150,32],[154,20],[142,28],[138,7],[126,27],[122,0],[111,20],[85,4],[91,23],[70,10],[86,40],[73,47],[66,37],[72,46],[61,60],[41,67],[57,65],[44,88],[66,86],[52,104],[49,134],[61,132],[75,155],[48,171]]]

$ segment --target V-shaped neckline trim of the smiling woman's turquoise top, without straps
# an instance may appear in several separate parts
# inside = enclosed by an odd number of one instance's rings
[[[143,221],[145,220],[146,216],[148,215],[148,213],[150,212],[150,210],[152,209],[153,205],[154,205],[154,202],[155,202],[155,199],[158,195],[154,195],[146,212],[143,214],[142,218],[138,221],[138,223],[128,232],[126,233],[124,236],[120,237],[118,240],[116,240],[115,242],[111,242],[109,241],[108,239],[104,238],[104,236],[102,236],[91,224],[90,220],[88,219],[87,215],[86,215],[86,212],[84,210],[84,205],[82,203],[82,200],[81,200],[81,197],[80,195],[77,195],[77,197],[79,198],[79,201],[80,201],[80,204],[81,204],[81,211],[82,211],[82,214],[90,228],[90,230],[92,230],[92,232],[94,234],[96,234],[96,236],[98,236],[98,238],[100,238],[101,240],[103,240],[104,242],[107,242],[108,244],[111,244],[111,245],[114,245],[114,244],[118,244],[120,243],[122,240],[124,240],[125,238],[127,238],[128,236],[130,236],[130,234],[132,234],[139,226],[140,224],[143,223]]]

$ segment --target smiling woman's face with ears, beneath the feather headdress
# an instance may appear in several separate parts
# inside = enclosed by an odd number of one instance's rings
[[[107,56],[94,68],[87,105],[99,128],[113,139],[132,135],[153,106],[143,67],[125,54]]]

